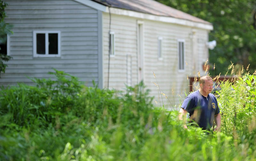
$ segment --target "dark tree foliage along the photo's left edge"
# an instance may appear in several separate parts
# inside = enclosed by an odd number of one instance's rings
[[[4,49],[6,47],[7,34],[12,34],[12,25],[4,22],[4,18],[6,17],[4,9],[6,6],[7,4],[0,0],[0,74],[1,72],[5,73],[5,68],[7,67],[4,61],[7,62],[12,58],[6,55],[6,49]]]

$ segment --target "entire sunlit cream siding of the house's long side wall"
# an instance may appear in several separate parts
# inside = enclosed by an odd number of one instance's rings
[[[108,32],[109,14],[103,14],[103,39],[104,39],[104,87],[108,85]],[[172,105],[179,104],[189,92],[187,76],[195,76],[197,71],[202,71],[202,62],[208,57],[205,42],[208,41],[208,31],[192,29],[191,27],[159,21],[136,19],[128,16],[111,14],[111,31],[115,32],[116,55],[110,57],[109,87],[122,90],[129,83],[132,73],[132,85],[138,83],[138,56],[137,56],[137,20],[143,22],[144,31],[144,83],[151,90],[150,95],[158,101],[158,88],[152,83],[156,79],[162,92],[164,92]],[[194,31],[194,34],[192,34]],[[162,37],[163,59],[157,57],[157,39]],[[184,40],[185,70],[178,71],[178,39]],[[200,41],[199,41],[200,40]],[[129,55],[129,59],[127,58]],[[127,62],[132,59],[132,65]],[[132,69],[131,72],[130,68]],[[154,78],[153,71],[156,74]],[[127,79],[129,78],[129,79]],[[172,95],[173,91],[173,95]],[[181,97],[180,97],[180,96]],[[161,98],[161,96],[160,96]],[[166,99],[163,97],[166,104]],[[155,101],[154,101],[155,102]],[[162,102],[162,99],[161,99]],[[165,105],[166,107],[166,105]],[[170,108],[169,104],[168,107]]]

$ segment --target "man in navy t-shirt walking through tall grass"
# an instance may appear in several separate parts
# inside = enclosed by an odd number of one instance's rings
[[[209,76],[200,78],[199,90],[189,94],[180,108],[180,119],[182,115],[189,113],[189,118],[196,121],[199,127],[210,129],[213,119],[216,124],[214,131],[220,131],[220,109],[216,97],[211,94],[213,81]],[[187,126],[184,126],[187,128]]]

